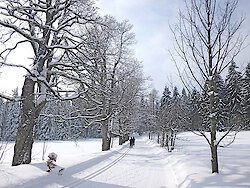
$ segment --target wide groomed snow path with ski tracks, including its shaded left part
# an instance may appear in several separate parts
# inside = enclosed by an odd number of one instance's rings
[[[56,172],[33,179],[20,188],[175,188],[176,178],[167,155],[147,139],[136,139],[134,148],[104,152],[75,166],[62,176]],[[161,151],[161,152],[159,152]],[[164,151],[165,152],[165,151]],[[167,154],[167,152],[165,152]]]

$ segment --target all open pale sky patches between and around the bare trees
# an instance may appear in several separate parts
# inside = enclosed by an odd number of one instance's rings
[[[135,55],[142,61],[145,76],[152,79],[151,88],[159,90],[160,95],[164,86],[171,83],[181,89],[182,84],[168,50],[173,46],[169,25],[176,22],[183,4],[184,0],[96,0],[101,15],[112,15],[118,21],[129,20],[134,26]],[[245,15],[243,29],[250,33],[249,8],[250,0],[239,0],[237,13]],[[250,61],[249,51],[248,47],[239,55],[239,62],[244,66]],[[17,51],[13,59],[27,63],[29,60],[25,54],[23,49]],[[21,89],[24,71],[11,69],[6,72],[2,68],[0,71],[0,92],[11,93],[17,86]]]

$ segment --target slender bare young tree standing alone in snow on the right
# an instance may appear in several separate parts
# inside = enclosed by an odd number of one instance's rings
[[[238,55],[244,41],[242,35],[237,36],[243,23],[243,18],[237,20],[234,16],[237,3],[238,0],[188,0],[173,29],[178,56],[202,89],[207,82],[210,138],[201,134],[210,146],[212,173],[219,173],[217,148],[229,133],[219,139],[216,135],[219,122],[215,79]]]

